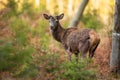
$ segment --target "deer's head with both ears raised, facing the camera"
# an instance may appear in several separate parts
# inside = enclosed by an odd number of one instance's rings
[[[59,27],[59,20],[61,20],[64,17],[64,14],[60,14],[57,16],[51,16],[51,15],[47,15],[47,14],[43,14],[44,18],[46,20],[49,20],[50,23],[50,29],[51,30],[56,30]]]

